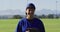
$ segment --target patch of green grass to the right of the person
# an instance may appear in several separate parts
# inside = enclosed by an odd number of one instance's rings
[[[60,32],[60,19],[42,19],[46,32]]]

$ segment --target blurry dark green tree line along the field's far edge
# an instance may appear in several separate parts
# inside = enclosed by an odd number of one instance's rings
[[[48,15],[35,15],[38,18],[49,18],[49,19],[55,19],[55,18],[60,18],[60,15],[55,15],[55,14],[48,14]],[[14,15],[13,19],[21,19],[23,18],[21,15]]]

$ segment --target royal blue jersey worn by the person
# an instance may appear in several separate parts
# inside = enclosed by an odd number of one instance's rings
[[[33,18],[32,20],[28,20],[27,18],[21,19],[18,22],[16,32],[26,32],[27,28],[35,28],[40,32],[45,32],[44,25],[38,18]]]

